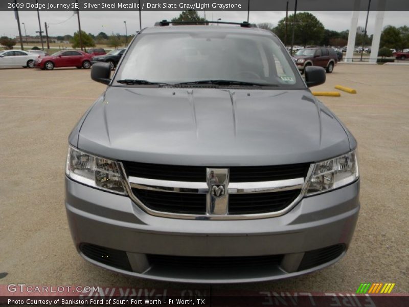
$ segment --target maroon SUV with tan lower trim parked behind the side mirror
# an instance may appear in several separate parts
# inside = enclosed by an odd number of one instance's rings
[[[337,55],[334,49],[324,47],[304,48],[294,54],[294,62],[303,73],[307,66],[321,66],[332,73],[337,62]]]

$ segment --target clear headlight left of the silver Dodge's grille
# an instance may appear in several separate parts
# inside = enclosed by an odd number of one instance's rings
[[[118,163],[69,146],[65,174],[98,189],[126,194]]]

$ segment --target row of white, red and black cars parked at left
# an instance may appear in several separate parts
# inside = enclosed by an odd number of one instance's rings
[[[49,55],[41,50],[5,50],[0,52],[0,67],[24,67],[53,70],[61,67],[89,69],[95,62],[107,62],[111,70],[115,69],[125,48],[114,49],[106,54],[102,48],[89,49],[88,53],[80,50],[63,50]]]

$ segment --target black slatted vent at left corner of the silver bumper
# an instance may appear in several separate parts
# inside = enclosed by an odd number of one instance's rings
[[[132,271],[128,256],[124,251],[89,243],[81,243],[80,251],[88,258],[101,262],[101,264],[126,271]]]

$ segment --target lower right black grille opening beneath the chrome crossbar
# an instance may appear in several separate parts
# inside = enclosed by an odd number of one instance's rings
[[[280,211],[291,204],[301,189],[269,193],[229,194],[229,214],[256,214]]]

